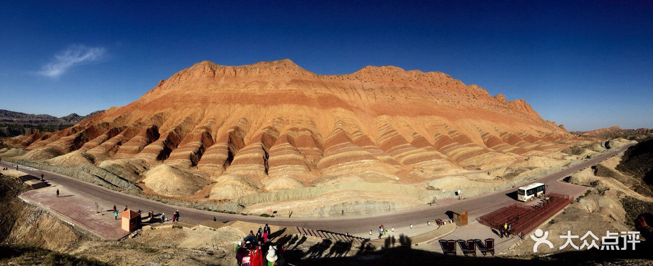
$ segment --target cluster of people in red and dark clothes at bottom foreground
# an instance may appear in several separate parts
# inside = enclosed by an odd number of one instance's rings
[[[263,228],[259,227],[256,234],[249,231],[249,235],[236,245],[236,263],[239,266],[283,265],[282,255],[285,249],[272,243],[268,239],[269,236],[268,224]]]

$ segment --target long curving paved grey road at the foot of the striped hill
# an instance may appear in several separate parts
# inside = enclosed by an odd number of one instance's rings
[[[633,145],[633,144],[631,144]],[[563,186],[560,183],[560,179],[570,175],[575,171],[582,170],[598,162],[601,162],[611,156],[624,151],[631,145],[626,145],[604,155],[597,156],[585,162],[581,162],[575,166],[571,166],[565,170],[552,173],[545,177],[541,177],[530,183],[545,183],[549,185],[547,191],[549,192],[560,192],[558,189]],[[0,162],[0,167],[9,167],[12,168],[15,164],[10,164],[8,162]],[[180,210],[182,220],[191,220],[193,222],[201,222],[204,220],[210,220],[214,216],[217,220],[241,220],[245,222],[256,222],[259,224],[275,224],[279,226],[300,226],[304,228],[312,229],[327,229],[330,231],[338,232],[355,232],[355,231],[364,231],[369,229],[377,228],[379,224],[384,224],[387,228],[395,225],[404,225],[410,223],[421,223],[426,220],[434,220],[436,218],[442,218],[443,220],[447,218],[445,212],[451,209],[464,209],[469,212],[470,221],[475,219],[478,216],[481,216],[486,213],[490,213],[500,207],[504,207],[511,203],[517,202],[515,199],[509,198],[506,194],[514,192],[516,189],[511,188],[508,190],[503,190],[499,192],[494,192],[491,194],[486,194],[483,196],[477,196],[469,199],[462,199],[460,201],[449,201],[451,204],[447,205],[424,205],[424,207],[419,207],[415,209],[410,209],[408,211],[399,211],[399,212],[390,212],[388,214],[381,214],[376,216],[355,216],[355,217],[334,217],[334,218],[263,218],[259,216],[244,216],[241,214],[225,214],[225,213],[215,213],[211,211],[202,211],[197,209],[177,207],[174,205],[167,205],[159,201],[153,201],[150,199],[140,198],[138,196],[132,196],[129,194],[123,194],[102,186],[94,185],[91,183],[86,183],[84,181],[79,181],[73,179],[72,177],[67,177],[64,175],[59,175],[57,173],[52,173],[49,171],[29,171],[21,169],[27,173],[30,173],[35,176],[40,176],[41,173],[44,173],[46,179],[53,185],[65,186],[69,190],[77,190],[85,192],[86,194],[95,196],[97,198],[103,199],[103,201],[114,202],[118,206],[129,205],[131,209],[141,209],[141,210],[153,210],[153,211],[163,211],[165,213],[172,213],[172,211],[178,209]],[[527,184],[530,184],[527,183]],[[524,185],[527,185],[524,184]],[[564,191],[562,191],[564,192]]]

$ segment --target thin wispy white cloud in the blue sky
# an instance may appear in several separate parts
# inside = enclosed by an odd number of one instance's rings
[[[73,66],[88,62],[98,61],[103,58],[106,49],[103,47],[88,47],[72,45],[54,55],[54,61],[44,65],[39,74],[50,78],[57,78]]]

